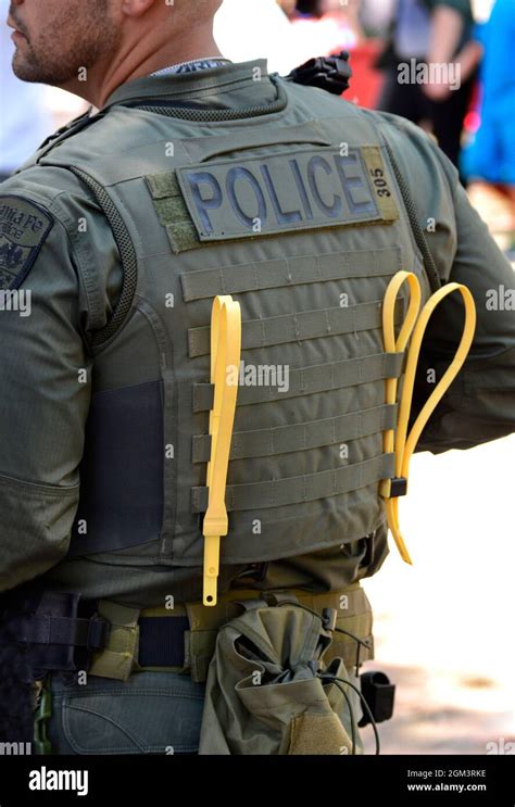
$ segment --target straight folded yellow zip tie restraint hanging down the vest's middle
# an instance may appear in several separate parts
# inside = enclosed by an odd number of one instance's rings
[[[211,313],[211,383],[214,384],[210,413],[211,458],[208,463],[208,510],[204,516],[204,605],[216,605],[219,569],[219,539],[228,532],[225,488],[230,441],[235,421],[238,383],[228,382],[241,355],[241,311],[230,294],[217,295]],[[235,374],[233,374],[235,375]]]

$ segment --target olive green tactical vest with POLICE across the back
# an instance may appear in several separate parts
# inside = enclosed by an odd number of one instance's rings
[[[370,117],[275,80],[261,115],[117,105],[95,128],[115,154],[79,134],[40,160],[95,193],[124,265],[95,351],[71,555],[202,565],[217,294],[242,315],[222,563],[300,556],[385,520],[385,379],[402,356],[384,352],[381,304],[399,269],[424,299],[429,283]]]

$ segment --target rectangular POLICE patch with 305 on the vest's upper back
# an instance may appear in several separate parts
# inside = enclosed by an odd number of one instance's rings
[[[200,241],[399,217],[379,149],[328,147],[177,168]]]

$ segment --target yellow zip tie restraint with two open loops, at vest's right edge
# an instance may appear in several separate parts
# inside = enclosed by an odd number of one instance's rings
[[[407,306],[404,323],[399,332],[399,337],[395,340],[395,302],[399,291],[405,282],[407,282],[410,287],[410,303]],[[427,324],[435,308],[445,297],[452,294],[454,291],[459,291],[461,293],[463,302],[465,304],[465,321],[463,326],[462,339],[460,341],[457,351],[454,354],[453,361],[427,399],[425,405],[418,414],[418,417],[413,424],[410,434],[407,434],[407,424],[410,420],[410,413],[412,407],[415,374]],[[390,528],[397,547],[401,553],[402,559],[405,560],[407,564],[411,564],[412,559],[410,557],[410,553],[407,552],[399,527],[399,496],[405,495],[407,492],[407,475],[410,471],[410,461],[418,442],[418,438],[420,437],[424,427],[426,426],[429,417],[434,413],[443,394],[447,392],[447,390],[460,373],[463,363],[467,357],[476,329],[476,306],[474,303],[474,298],[466,286],[454,282],[447,283],[441,289],[436,291],[432,297],[429,298],[427,303],[424,305],[420,315],[418,316],[418,312],[420,308],[420,285],[417,277],[412,272],[398,272],[397,275],[394,275],[390,280],[385,295],[385,303],[382,308],[382,331],[385,351],[387,353],[403,353],[406,348],[407,341],[412,336],[411,345],[407,351],[407,361],[404,382],[402,386],[401,400],[399,403],[399,420],[397,429],[394,431],[393,429],[389,429],[388,431],[386,431],[382,441],[385,453],[391,453],[392,451],[394,452],[395,476],[393,477],[393,479],[384,479],[379,484],[379,493],[386,500],[385,505],[388,527]],[[388,404],[394,404],[397,402],[397,388],[398,379],[388,378],[386,381],[386,402]]]

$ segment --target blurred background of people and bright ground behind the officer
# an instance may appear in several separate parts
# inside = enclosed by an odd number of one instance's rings
[[[0,0],[0,178],[86,109],[14,78],[8,11]],[[515,0],[224,0],[215,33],[228,59],[267,58],[281,75],[348,50],[346,99],[430,131],[514,262]],[[400,84],[411,60],[459,65],[460,86]],[[401,525],[414,566],[393,547],[366,583],[376,625],[366,667],[398,684],[384,753],[505,753],[515,742],[514,449],[511,437],[413,459]]]

